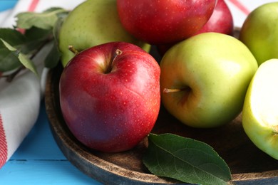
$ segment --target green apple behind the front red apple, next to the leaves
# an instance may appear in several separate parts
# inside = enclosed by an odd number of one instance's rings
[[[65,66],[76,51],[112,41],[125,41],[150,51],[150,45],[130,35],[120,23],[116,0],[87,0],[76,6],[61,26],[58,37],[61,60]]]

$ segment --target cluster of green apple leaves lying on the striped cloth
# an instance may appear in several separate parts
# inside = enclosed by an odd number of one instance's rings
[[[16,15],[14,28],[0,28],[0,72],[15,70],[11,75],[1,77],[11,81],[24,68],[38,75],[32,60],[48,43],[52,49],[46,53],[46,58],[41,60],[46,68],[55,67],[61,58],[58,50],[58,31],[68,12],[58,7],[41,13],[22,12]],[[18,28],[21,28],[20,31]]]

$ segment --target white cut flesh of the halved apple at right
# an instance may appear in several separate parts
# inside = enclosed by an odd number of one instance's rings
[[[251,108],[262,126],[278,133],[278,60],[263,63],[254,76]]]

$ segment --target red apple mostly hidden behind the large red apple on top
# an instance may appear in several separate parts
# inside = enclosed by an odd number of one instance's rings
[[[224,0],[218,0],[210,19],[194,35],[205,32],[217,32],[232,36],[233,31],[234,20],[232,18],[232,12]]]

